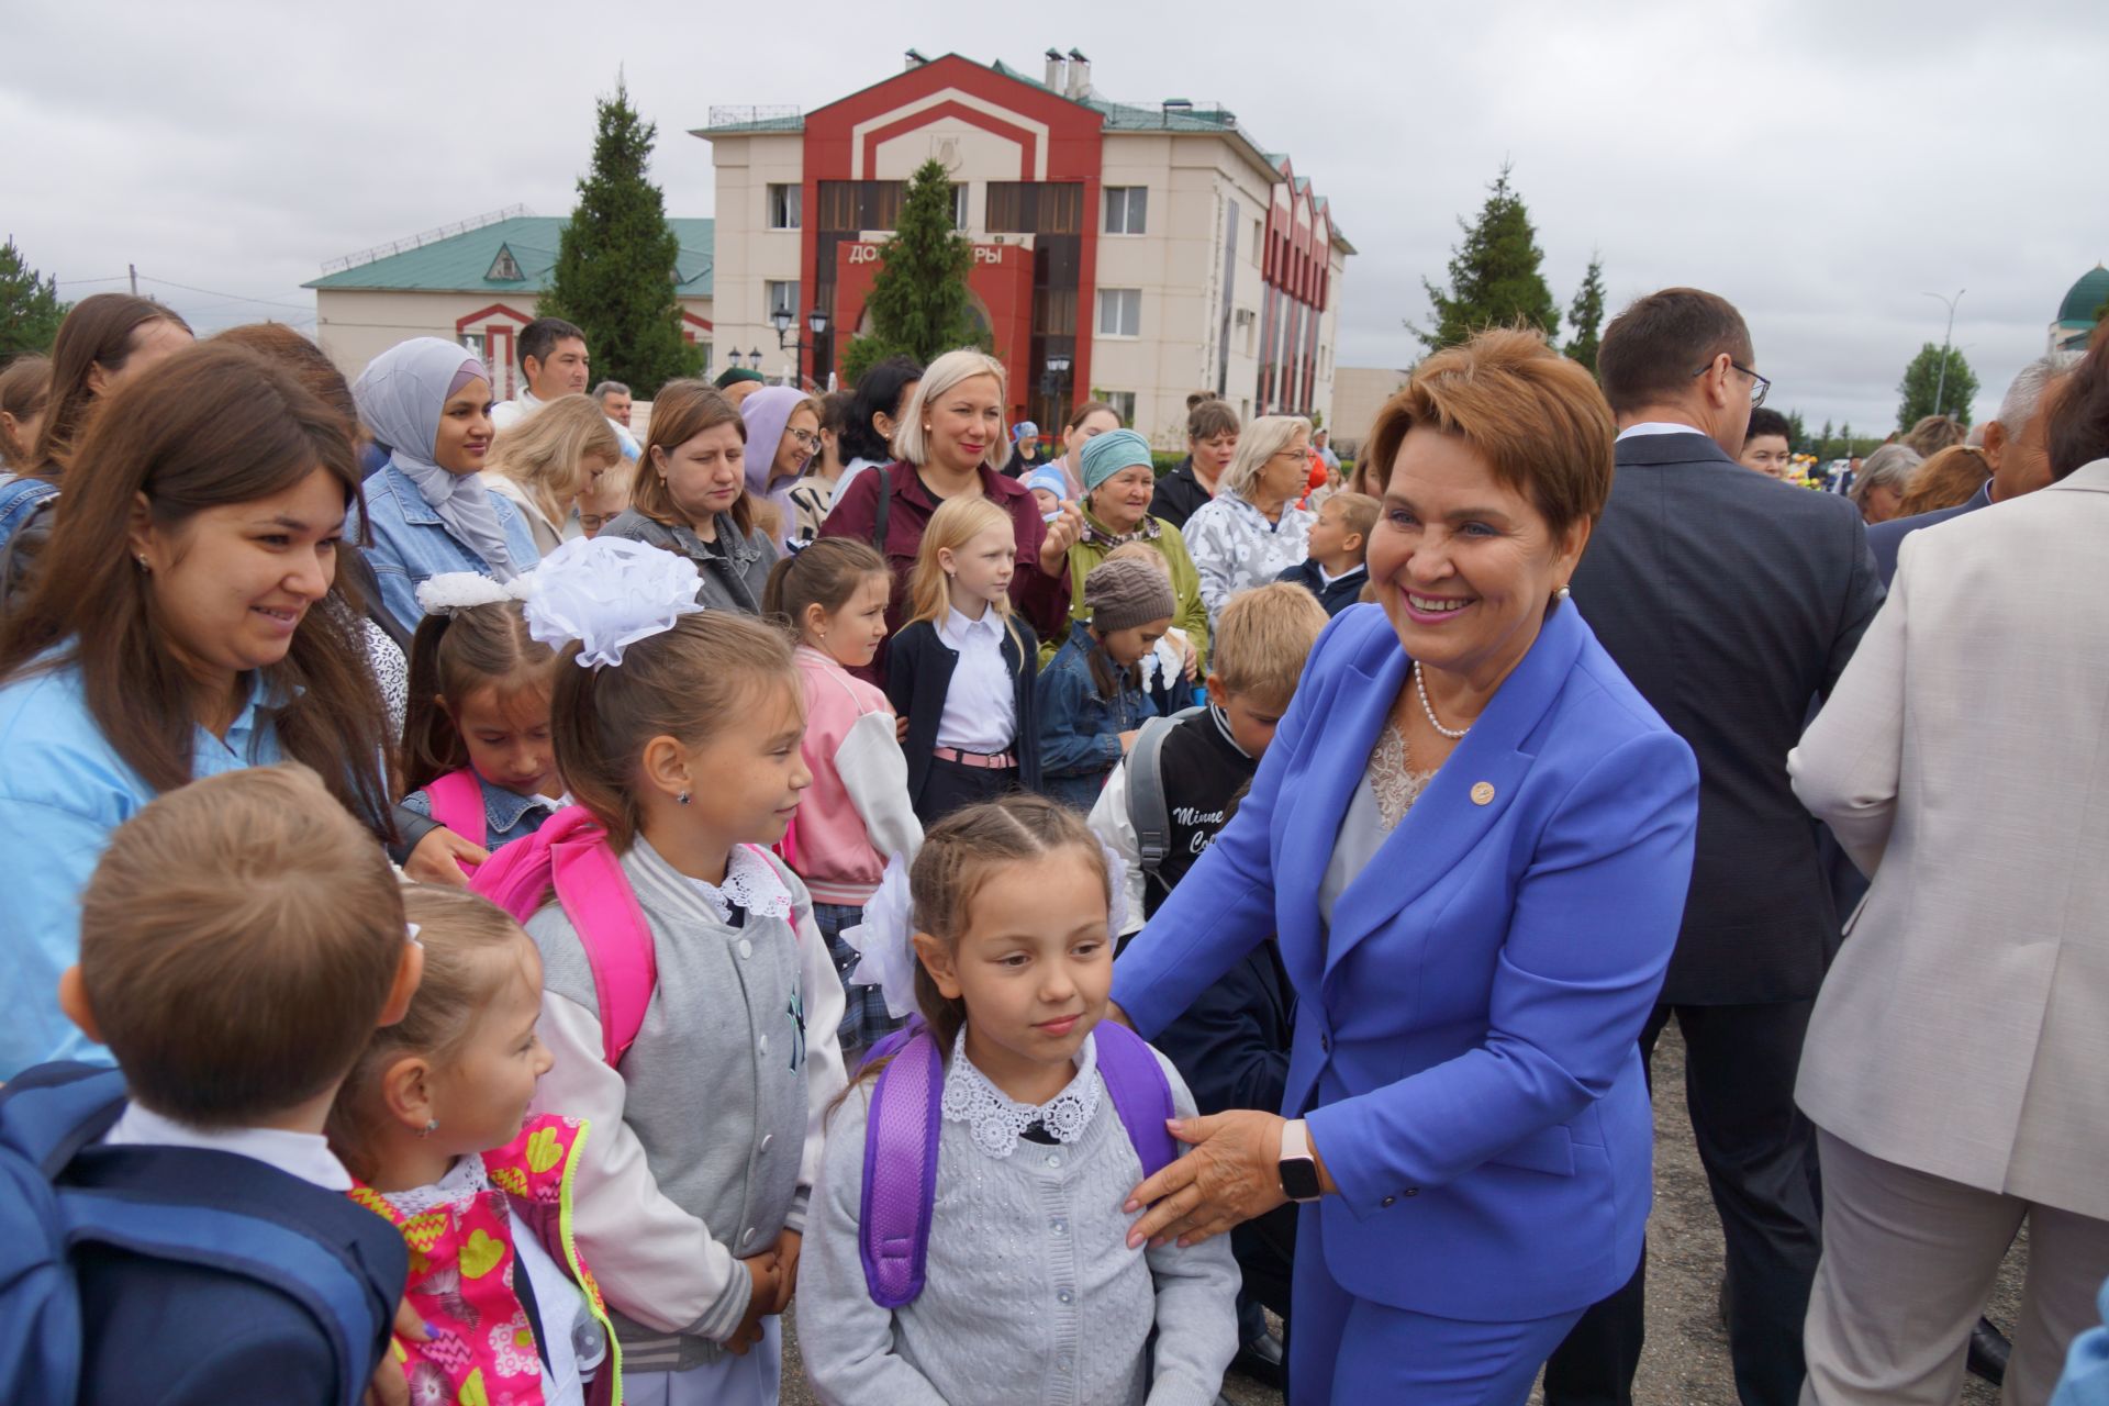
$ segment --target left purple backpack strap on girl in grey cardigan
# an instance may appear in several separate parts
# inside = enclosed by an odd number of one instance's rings
[[[865,1119],[865,1183],[856,1218],[856,1254],[865,1288],[882,1309],[901,1309],[922,1294],[930,1258],[930,1208],[936,1202],[939,1100],[945,1058],[915,1022],[898,1033],[892,1062],[879,1071]],[[882,1041],[879,1050],[888,1050]]]

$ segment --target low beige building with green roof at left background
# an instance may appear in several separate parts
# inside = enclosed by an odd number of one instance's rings
[[[688,339],[702,344],[709,367],[711,221],[666,223],[681,240],[681,320]],[[517,337],[538,316],[563,226],[563,219],[502,211],[335,259],[304,285],[314,289],[316,341],[346,379],[356,379],[396,341],[460,341],[491,369],[491,394],[506,401],[525,388]]]

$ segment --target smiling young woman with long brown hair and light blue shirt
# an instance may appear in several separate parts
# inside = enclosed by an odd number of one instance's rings
[[[251,352],[192,348],[112,396],[65,483],[0,632],[0,1079],[108,1058],[59,1014],[59,974],[110,833],[162,790],[304,761],[392,831],[359,603],[325,609],[359,497],[344,419]]]

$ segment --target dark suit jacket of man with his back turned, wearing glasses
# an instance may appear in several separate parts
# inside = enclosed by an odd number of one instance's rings
[[[1852,502],[1753,474],[1696,430],[1620,441],[1573,603],[1700,761],[1664,1001],[1795,1001],[1822,984],[1839,913],[1786,753],[1881,594]]]

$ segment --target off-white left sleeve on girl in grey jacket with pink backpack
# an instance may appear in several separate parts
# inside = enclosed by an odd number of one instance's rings
[[[709,1225],[658,1189],[643,1143],[622,1119],[628,1086],[601,1058],[599,1016],[544,991],[540,1033],[557,1062],[536,1086],[536,1111],[591,1124],[574,1229],[601,1292],[647,1328],[730,1339],[747,1315],[753,1277]]]

